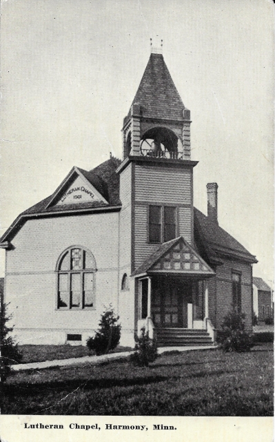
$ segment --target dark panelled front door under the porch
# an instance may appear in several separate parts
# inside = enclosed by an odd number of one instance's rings
[[[152,279],[152,320],[156,327],[187,327],[189,285],[177,278]]]

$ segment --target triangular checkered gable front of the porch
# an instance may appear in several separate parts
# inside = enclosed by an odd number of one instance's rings
[[[184,242],[178,242],[172,247],[151,267],[150,271],[214,274],[203,258]]]

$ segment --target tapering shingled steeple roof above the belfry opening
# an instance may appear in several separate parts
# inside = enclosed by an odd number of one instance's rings
[[[183,119],[185,106],[162,54],[150,55],[132,104],[141,106],[143,117]],[[130,116],[130,111],[128,116]]]

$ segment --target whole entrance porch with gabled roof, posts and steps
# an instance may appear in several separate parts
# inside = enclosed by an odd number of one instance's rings
[[[213,343],[208,278],[214,275],[183,237],[161,244],[132,273],[137,282],[138,333],[145,327],[161,345]]]

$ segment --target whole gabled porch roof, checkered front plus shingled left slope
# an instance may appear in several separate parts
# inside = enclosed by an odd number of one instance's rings
[[[141,266],[134,270],[132,276],[144,273],[192,276],[203,279],[216,274],[182,236],[161,244]]]

